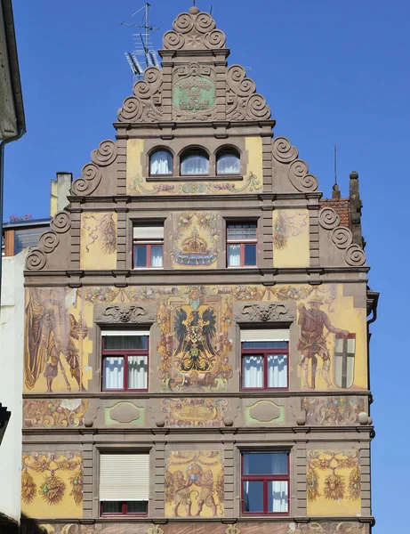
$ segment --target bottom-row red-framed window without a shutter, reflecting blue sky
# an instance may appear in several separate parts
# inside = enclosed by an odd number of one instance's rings
[[[242,513],[289,514],[288,452],[242,452]]]

